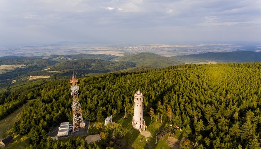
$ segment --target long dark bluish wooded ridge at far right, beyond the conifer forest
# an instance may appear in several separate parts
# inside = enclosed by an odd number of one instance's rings
[[[172,56],[171,58],[179,59],[187,63],[199,63],[216,61],[220,63],[227,62],[260,62],[261,52],[240,51],[240,52],[208,52],[202,54]]]

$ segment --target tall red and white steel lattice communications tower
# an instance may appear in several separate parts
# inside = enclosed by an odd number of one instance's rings
[[[78,90],[79,86],[77,86],[78,79],[73,76],[70,79],[71,83],[71,95],[73,97],[73,102],[72,102],[72,114],[73,114],[73,133],[79,128],[84,128],[85,127],[85,122],[83,121],[82,114],[81,114],[81,104],[79,102],[78,98]]]

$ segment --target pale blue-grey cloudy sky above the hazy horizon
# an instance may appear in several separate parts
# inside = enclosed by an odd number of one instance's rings
[[[261,41],[261,0],[0,0],[0,46]]]

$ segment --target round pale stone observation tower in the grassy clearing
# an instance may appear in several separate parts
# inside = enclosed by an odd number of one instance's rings
[[[145,121],[143,120],[143,95],[140,93],[140,91],[136,92],[134,94],[134,115],[132,116],[132,126],[134,129],[139,130],[142,132],[142,130],[145,129]]]

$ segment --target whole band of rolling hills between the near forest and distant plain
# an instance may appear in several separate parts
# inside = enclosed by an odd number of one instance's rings
[[[27,81],[29,76],[66,77],[75,71],[78,76],[108,72],[147,72],[152,68],[163,68],[184,63],[228,63],[258,62],[261,52],[208,52],[186,56],[163,57],[154,53],[137,53],[125,56],[105,54],[53,55],[45,57],[0,57],[0,65],[23,65],[3,68],[0,84],[7,86],[11,80]],[[7,66],[8,67],[8,66]]]

